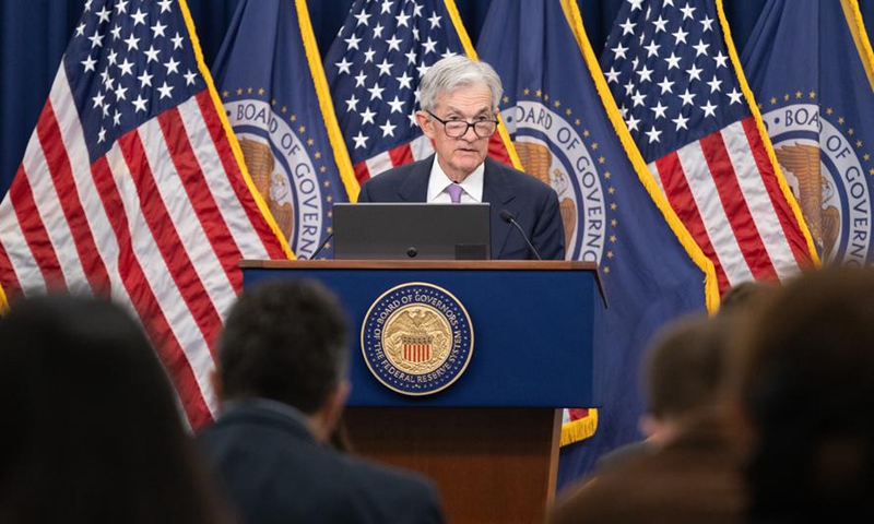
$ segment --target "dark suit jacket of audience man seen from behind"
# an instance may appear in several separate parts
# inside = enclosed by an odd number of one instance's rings
[[[246,524],[444,522],[424,478],[327,449],[275,409],[236,406],[198,441]]]

